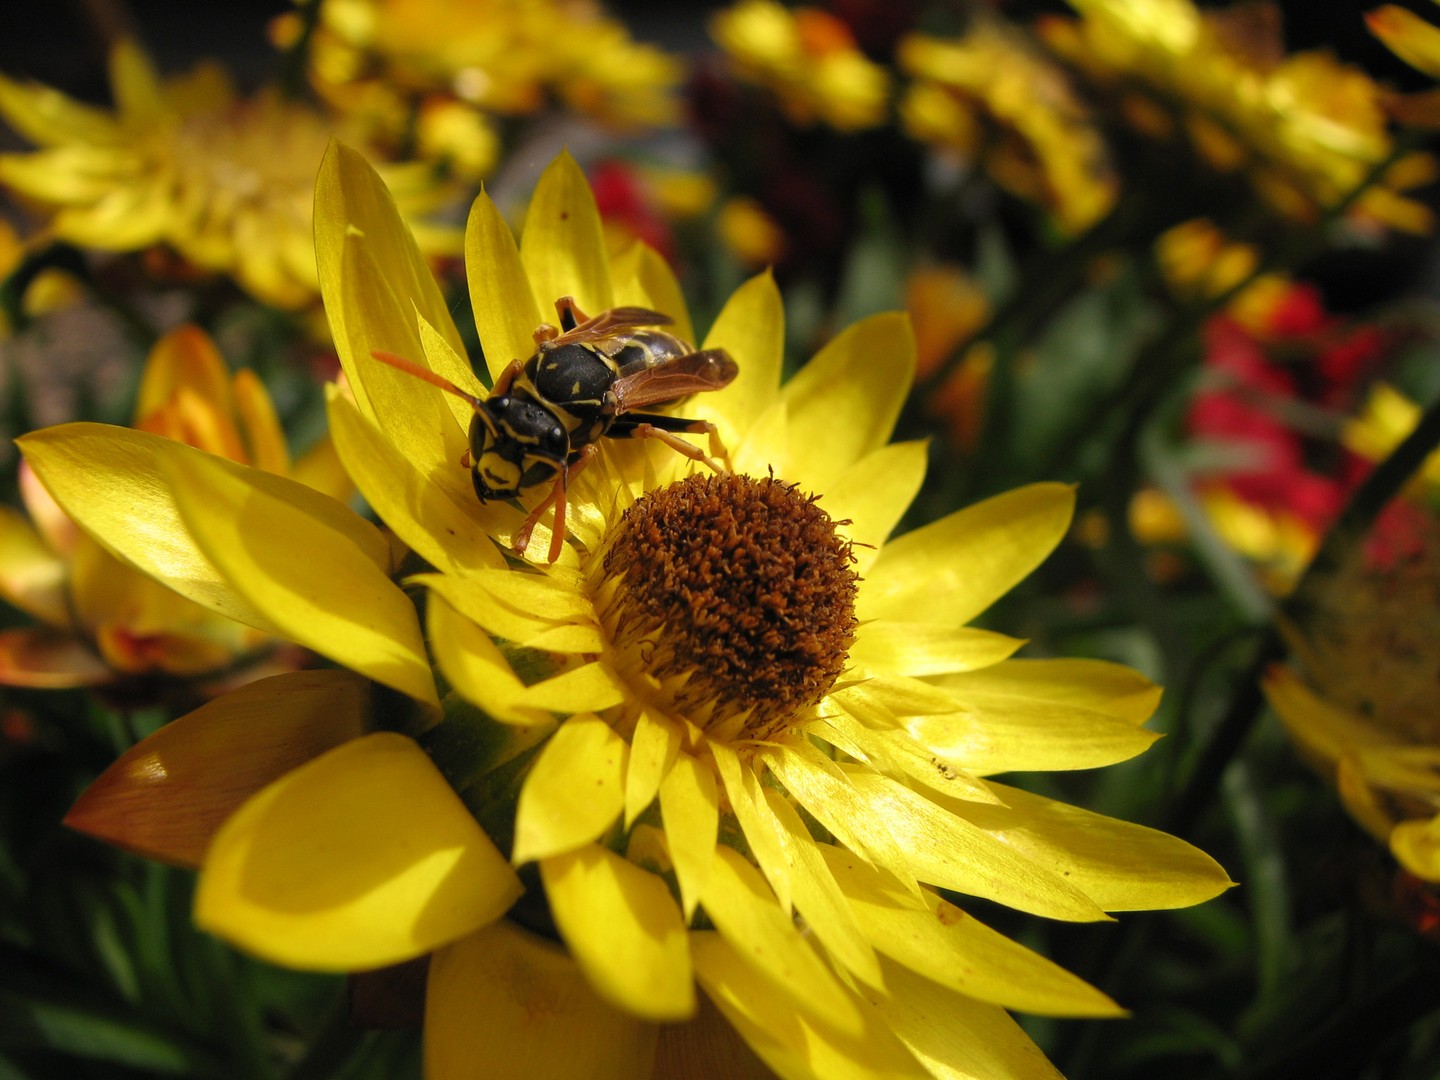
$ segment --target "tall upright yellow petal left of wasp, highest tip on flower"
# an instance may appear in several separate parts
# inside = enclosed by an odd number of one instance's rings
[[[384,183],[360,154],[340,143],[325,151],[315,179],[315,262],[336,351],[360,410],[379,419],[387,433],[406,416],[422,426],[433,420],[433,397],[425,396],[422,409],[412,405],[406,413],[416,380],[376,361],[370,351],[380,348],[419,363],[416,312],[456,353],[464,353],[464,346]]]

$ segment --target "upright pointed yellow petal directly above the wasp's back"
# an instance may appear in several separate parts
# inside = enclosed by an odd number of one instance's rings
[[[575,297],[586,315],[615,307],[600,213],[585,173],[567,151],[536,183],[520,235],[520,259],[543,321],[554,321],[560,297]]]

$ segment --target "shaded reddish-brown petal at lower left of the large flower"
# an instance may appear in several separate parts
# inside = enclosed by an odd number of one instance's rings
[[[127,750],[65,824],[147,858],[197,867],[245,799],[360,737],[367,713],[369,684],[348,671],[248,683]]]

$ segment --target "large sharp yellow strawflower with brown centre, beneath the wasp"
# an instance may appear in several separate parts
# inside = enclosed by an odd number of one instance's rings
[[[478,503],[459,465],[471,405],[373,359],[482,393],[383,186],[337,147],[317,207],[353,389],[330,397],[333,435],[431,567],[405,579],[425,634],[373,526],[215,459],[109,469],[82,524],[131,559],[167,549],[148,559],[161,579],[403,697],[379,710],[343,672],[251,687],[137,746],[72,822],[199,861],[200,924],[281,963],[433,952],[431,1080],[631,1080],[681,1060],[733,1076],[710,1050],[716,1011],[785,1077],[1054,1076],[1007,1009],[1119,1007],[939,890],[1094,922],[1230,884],[1179,840],[989,779],[1155,739],[1140,724],[1159,691],[1138,674],[1012,660],[1022,642],[966,626],[1060,541],[1073,491],[1037,484],[888,540],[926,461],[888,444],[914,366],[906,318],[848,328],[782,386],[762,275],[703,343],[739,377],[681,406],[716,425],[734,471],[605,439],[569,484],[559,559],[541,562],[546,516],[523,562],[524,508]],[[694,340],[654,252],[611,261],[569,157],[518,245],[477,200],[467,269],[492,377],[534,350],[557,297],[657,310]],[[112,431],[104,456],[132,438]],[[24,449],[45,475],[72,439]],[[138,491],[143,516],[124,508]],[[256,713],[271,742],[242,746]],[[157,760],[179,770],[157,778]]]

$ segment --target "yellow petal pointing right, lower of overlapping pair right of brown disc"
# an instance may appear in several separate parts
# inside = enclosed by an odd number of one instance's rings
[[[1079,706],[956,690],[963,708],[912,716],[904,729],[943,760],[978,775],[1097,769],[1126,762],[1155,732]]]

